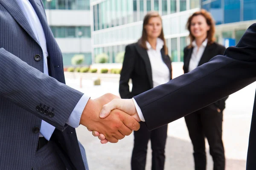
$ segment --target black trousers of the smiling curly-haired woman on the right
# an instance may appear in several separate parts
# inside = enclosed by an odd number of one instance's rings
[[[225,169],[222,120],[222,112],[207,107],[185,116],[189,137],[194,147],[195,170],[206,170],[205,137],[214,162],[213,170]]]

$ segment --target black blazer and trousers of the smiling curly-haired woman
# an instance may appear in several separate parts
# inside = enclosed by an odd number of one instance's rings
[[[189,72],[193,49],[193,47],[189,48],[189,46],[184,48],[184,74]],[[218,45],[215,42],[207,44],[198,66],[208,62],[217,55],[224,54],[225,49],[224,46]],[[210,154],[214,162],[213,169],[225,169],[222,120],[226,99],[227,97],[184,117],[194,148],[195,170],[206,170],[205,137],[207,137]]]

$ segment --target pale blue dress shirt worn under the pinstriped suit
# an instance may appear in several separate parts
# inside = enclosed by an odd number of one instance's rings
[[[32,28],[35,37],[37,38],[38,42],[40,43],[40,46],[43,51],[43,58],[44,58],[44,74],[48,74],[48,65],[47,65],[47,42],[45,39],[44,29],[41,25],[41,22],[35,12],[35,9],[29,2],[29,0],[17,0],[17,3],[19,4],[21,10],[23,11],[23,14],[25,15],[26,19],[29,22],[29,26]],[[67,124],[72,127],[78,127],[81,114],[84,110],[85,105],[87,104],[87,101],[89,100],[89,97],[83,95],[79,102],[77,103],[76,107],[72,111]],[[42,120],[41,128],[40,128],[40,135],[44,136],[45,139],[49,141],[49,139],[52,136],[53,131],[55,130],[55,127],[50,125],[49,123]]]

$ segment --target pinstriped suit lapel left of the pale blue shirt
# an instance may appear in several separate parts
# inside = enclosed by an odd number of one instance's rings
[[[12,17],[19,23],[19,25],[29,34],[30,37],[38,43],[38,40],[35,37],[35,34],[29,26],[23,11],[21,10],[19,4],[16,0],[0,0],[0,3],[6,8],[6,10],[12,15]]]

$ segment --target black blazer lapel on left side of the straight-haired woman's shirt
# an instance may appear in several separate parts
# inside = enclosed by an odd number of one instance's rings
[[[148,57],[148,52],[146,49],[140,47],[140,45],[138,43],[136,43],[135,47],[136,47],[138,53],[140,54],[140,57],[145,62],[145,67],[146,67],[146,71],[148,74],[149,83],[150,83],[151,88],[153,88],[152,68],[151,68],[151,63],[150,63],[149,57]]]

